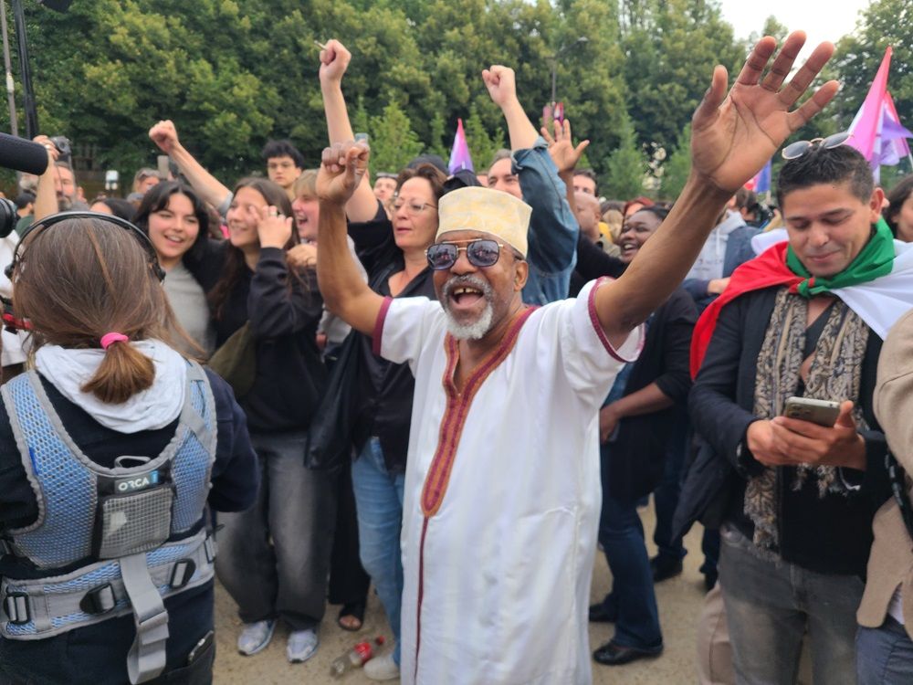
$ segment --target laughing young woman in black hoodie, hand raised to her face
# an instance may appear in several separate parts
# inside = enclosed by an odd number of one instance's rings
[[[304,661],[318,646],[335,506],[329,473],[304,465],[310,420],[326,386],[316,342],[322,300],[314,269],[287,258],[298,236],[282,188],[262,178],[240,181],[226,218],[228,240],[216,244],[199,279],[220,274],[210,293],[216,346],[231,350],[261,487],[250,510],[220,517],[216,573],[245,623],[238,650],[265,648],[282,618],[291,629],[289,661]]]

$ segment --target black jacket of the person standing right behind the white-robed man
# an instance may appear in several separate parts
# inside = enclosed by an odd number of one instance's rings
[[[624,395],[656,383],[675,405],[652,414],[625,416],[618,437],[603,445],[608,452],[609,491],[619,501],[634,501],[652,492],[663,476],[673,423],[685,412],[691,374],[688,350],[698,318],[694,300],[675,290],[648,323],[644,350],[635,362]]]

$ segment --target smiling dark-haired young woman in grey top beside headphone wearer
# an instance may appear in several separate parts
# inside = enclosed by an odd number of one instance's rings
[[[184,265],[184,258],[199,260],[206,250],[209,214],[200,198],[188,186],[161,183],[142,198],[134,223],[149,236],[159,264],[167,273],[165,295],[178,322],[200,348],[183,351],[208,357],[215,349],[215,328],[209,316],[206,294],[199,281]],[[180,336],[175,336],[180,340]]]

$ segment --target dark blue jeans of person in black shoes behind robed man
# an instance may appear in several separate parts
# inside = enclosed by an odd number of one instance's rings
[[[644,526],[635,502],[622,504],[609,491],[608,450],[602,450],[603,511],[599,517],[599,542],[612,570],[612,592],[603,604],[617,618],[616,645],[653,648],[663,643],[659,610],[653,589],[653,572],[646,553]]]

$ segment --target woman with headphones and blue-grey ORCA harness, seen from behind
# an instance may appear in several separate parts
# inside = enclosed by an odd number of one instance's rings
[[[136,227],[48,216],[10,272],[34,368],[0,390],[0,683],[211,682],[207,510],[255,500],[245,416],[170,344]]]

